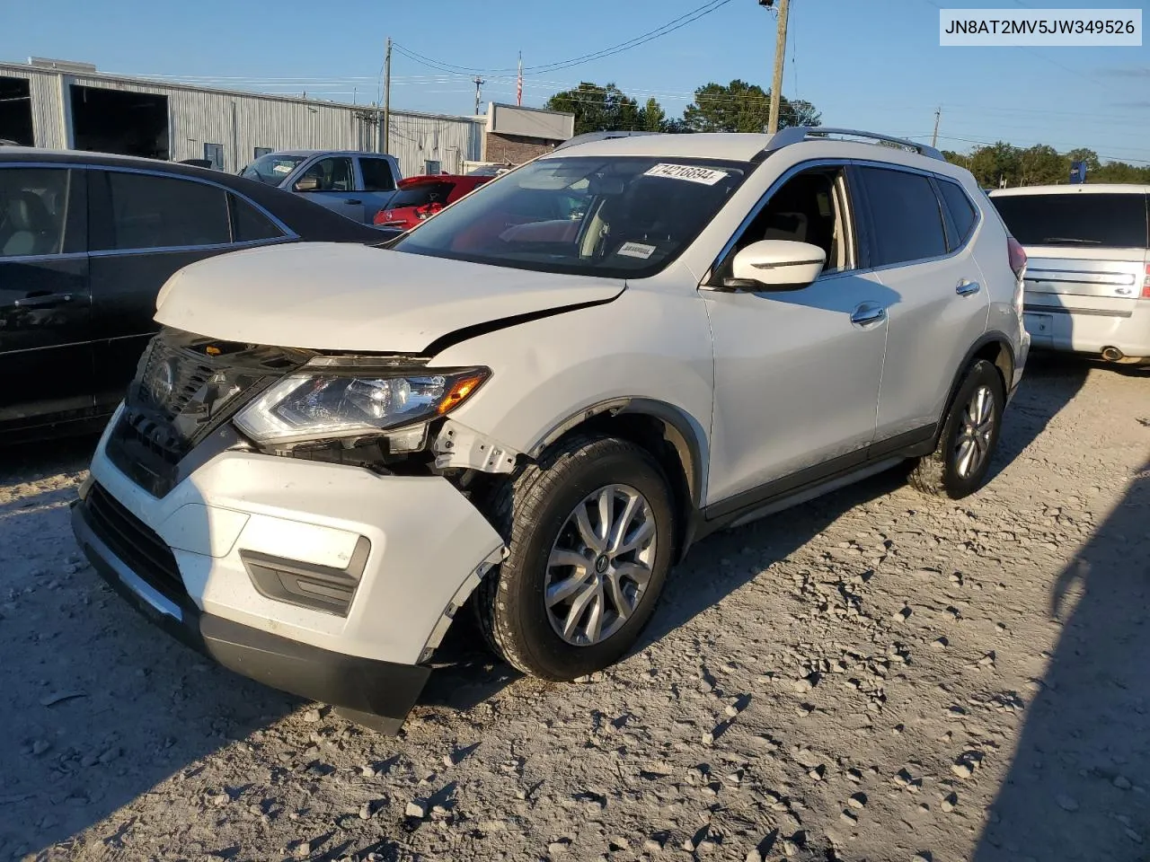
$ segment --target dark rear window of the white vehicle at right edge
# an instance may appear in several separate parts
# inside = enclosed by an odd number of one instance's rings
[[[990,200],[1025,246],[1148,247],[1144,194],[1004,194]]]

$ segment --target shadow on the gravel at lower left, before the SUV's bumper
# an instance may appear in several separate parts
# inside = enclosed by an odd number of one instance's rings
[[[69,502],[92,444],[0,451],[0,859],[75,857],[79,832],[302,705],[179,645],[86,564]]]

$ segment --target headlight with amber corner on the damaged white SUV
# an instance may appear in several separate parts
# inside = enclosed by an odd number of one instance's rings
[[[378,433],[443,416],[490,374],[470,368],[379,377],[293,375],[240,410],[236,425],[260,444]]]

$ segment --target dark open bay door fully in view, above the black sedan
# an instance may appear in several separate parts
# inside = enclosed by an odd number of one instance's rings
[[[169,159],[168,97],[71,85],[77,149]]]

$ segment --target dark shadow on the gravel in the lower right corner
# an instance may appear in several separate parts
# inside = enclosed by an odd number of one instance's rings
[[[1051,587],[1061,634],[973,859],[1150,859],[1150,461]]]

